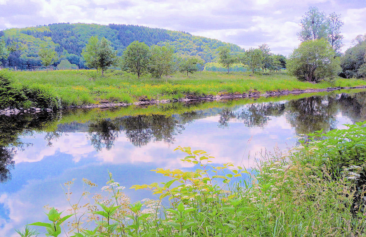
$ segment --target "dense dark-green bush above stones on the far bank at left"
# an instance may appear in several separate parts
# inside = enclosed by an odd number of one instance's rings
[[[9,70],[0,70],[0,114],[52,111],[61,108],[61,100],[45,85],[21,85]]]

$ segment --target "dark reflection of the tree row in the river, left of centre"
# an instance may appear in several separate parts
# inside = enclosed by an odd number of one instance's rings
[[[173,143],[174,136],[184,129],[173,116],[137,115],[117,119],[103,119],[89,125],[89,139],[96,150],[111,149],[120,131],[135,146],[144,146],[151,141]]]

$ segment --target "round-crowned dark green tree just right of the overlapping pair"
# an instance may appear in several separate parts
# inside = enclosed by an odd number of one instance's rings
[[[144,42],[134,41],[123,52],[124,67],[126,70],[137,74],[138,78],[147,71],[149,61],[150,49]]]

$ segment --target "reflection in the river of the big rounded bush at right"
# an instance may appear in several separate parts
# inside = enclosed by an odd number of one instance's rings
[[[289,111],[286,119],[298,134],[321,129],[329,131],[336,126],[337,104],[337,100],[332,96],[327,96],[326,99],[322,96],[312,96],[290,100],[286,103]]]

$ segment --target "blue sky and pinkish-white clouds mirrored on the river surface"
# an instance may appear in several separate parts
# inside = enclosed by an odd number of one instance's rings
[[[284,104],[285,102],[277,102]],[[328,106],[328,102],[322,102]],[[248,106],[237,107],[232,112],[240,113]],[[126,194],[131,201],[152,198],[149,192],[128,190],[134,184],[145,184],[165,180],[160,174],[150,169],[184,168],[187,164],[180,161],[184,157],[181,152],[173,152],[176,146],[191,146],[192,149],[204,149],[215,158],[215,163],[232,162],[250,168],[253,160],[248,160],[247,152],[253,155],[261,149],[272,149],[276,142],[280,149],[292,146],[296,126],[288,122],[292,111],[288,108],[277,116],[267,115],[262,126],[248,127],[238,116],[228,119],[224,128],[219,126],[220,114],[212,114],[185,123],[185,129],[175,135],[173,144],[163,141],[151,141],[145,146],[134,146],[120,132],[112,149],[97,152],[87,139],[87,132],[67,132],[47,146],[46,133],[34,133],[22,137],[23,142],[33,144],[18,151],[14,157],[15,169],[11,171],[12,179],[0,184],[0,236],[16,236],[14,228],[22,228],[28,222],[46,221],[41,208],[45,204],[60,210],[68,208],[60,184],[75,178],[74,191],[82,187],[82,178],[98,184],[93,190],[98,192],[108,178],[107,170],[113,173],[116,181],[126,186]],[[343,123],[352,123],[351,119],[342,115],[337,109],[333,114],[336,122],[333,126],[344,128]],[[247,141],[253,136],[250,144]],[[289,143],[289,144],[286,144]],[[246,148],[247,147],[247,148]],[[244,154],[246,150],[246,153]],[[243,159],[244,155],[244,159]],[[79,193],[74,192],[75,197]],[[51,203],[50,203],[51,202]]]

